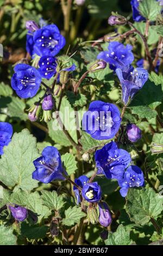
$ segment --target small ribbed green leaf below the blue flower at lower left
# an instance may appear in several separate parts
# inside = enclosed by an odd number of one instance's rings
[[[42,193],[42,200],[43,200],[43,205],[46,205],[49,209],[51,210],[60,210],[64,205],[64,197],[61,195],[58,195],[56,191],[41,191]]]

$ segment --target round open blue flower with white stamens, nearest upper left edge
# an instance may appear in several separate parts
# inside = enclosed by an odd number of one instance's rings
[[[11,87],[23,99],[33,97],[39,90],[41,76],[39,71],[27,64],[17,64],[11,78]]]

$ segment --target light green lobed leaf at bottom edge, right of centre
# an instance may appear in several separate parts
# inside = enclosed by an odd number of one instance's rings
[[[105,240],[105,245],[131,245],[133,241],[130,239],[130,232],[126,231],[123,225],[119,225],[116,232],[109,231],[108,239]]]

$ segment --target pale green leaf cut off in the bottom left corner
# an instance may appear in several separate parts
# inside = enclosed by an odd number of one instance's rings
[[[16,236],[12,232],[12,228],[0,225],[0,245],[16,245]]]

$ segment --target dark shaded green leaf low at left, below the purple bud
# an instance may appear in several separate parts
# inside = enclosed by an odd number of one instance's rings
[[[26,222],[21,223],[21,235],[30,239],[41,239],[46,236],[49,227],[46,225],[32,225]]]

